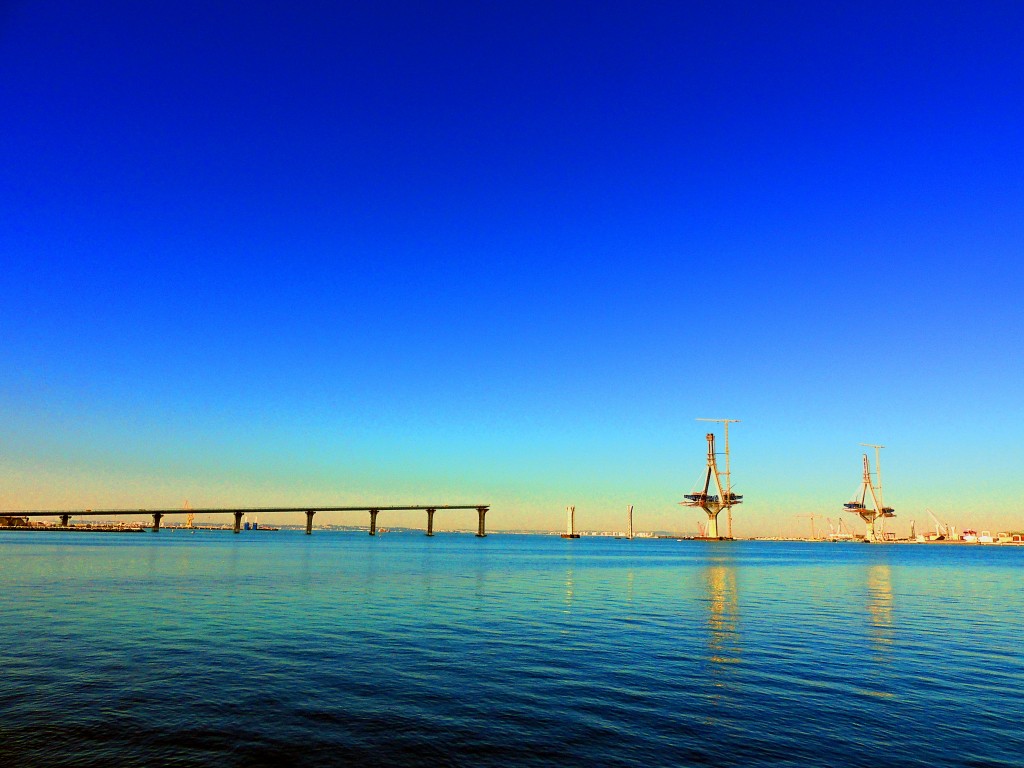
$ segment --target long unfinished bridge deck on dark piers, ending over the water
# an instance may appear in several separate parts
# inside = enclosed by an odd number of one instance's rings
[[[434,535],[434,513],[439,509],[475,509],[479,515],[479,522],[476,528],[478,537],[487,535],[484,528],[484,517],[489,504],[435,504],[430,507],[211,507],[207,509],[80,509],[80,510],[26,510],[26,511],[4,511],[0,512],[0,517],[58,517],[60,524],[68,526],[72,517],[109,517],[112,515],[153,515],[153,531],[160,531],[160,520],[165,515],[234,515],[234,532],[242,529],[242,518],[247,514],[259,514],[261,512],[305,512],[306,513],[306,534],[313,532],[313,515],[317,512],[369,512],[370,513],[370,536],[377,536],[377,515],[381,512],[409,512],[423,510],[427,513],[427,536]]]

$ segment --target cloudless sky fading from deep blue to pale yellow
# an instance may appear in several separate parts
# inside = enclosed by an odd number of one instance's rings
[[[729,417],[737,535],[838,518],[860,442],[897,530],[1024,528],[1022,40],[1019,2],[7,2],[0,508],[693,531]]]

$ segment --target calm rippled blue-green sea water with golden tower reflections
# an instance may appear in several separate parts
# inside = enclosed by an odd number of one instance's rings
[[[1024,765],[1024,548],[0,532],[0,765]]]

